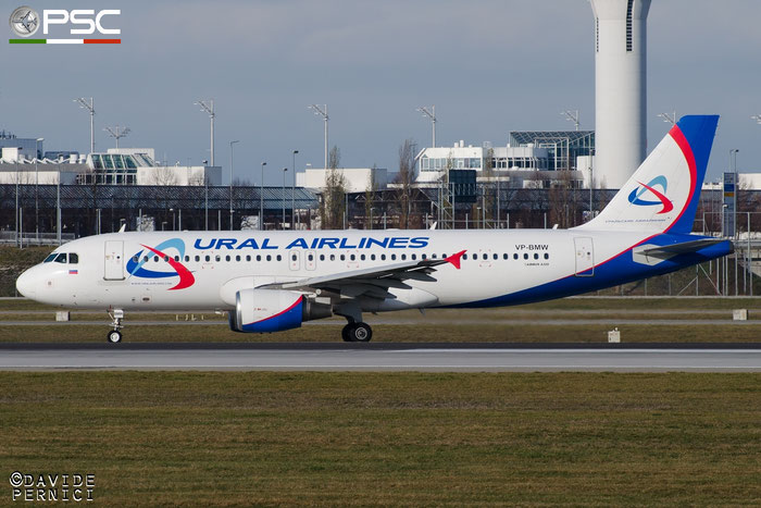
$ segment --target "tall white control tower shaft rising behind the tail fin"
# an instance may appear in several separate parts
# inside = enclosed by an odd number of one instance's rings
[[[621,188],[645,160],[650,0],[590,0],[595,13],[595,186]]]

